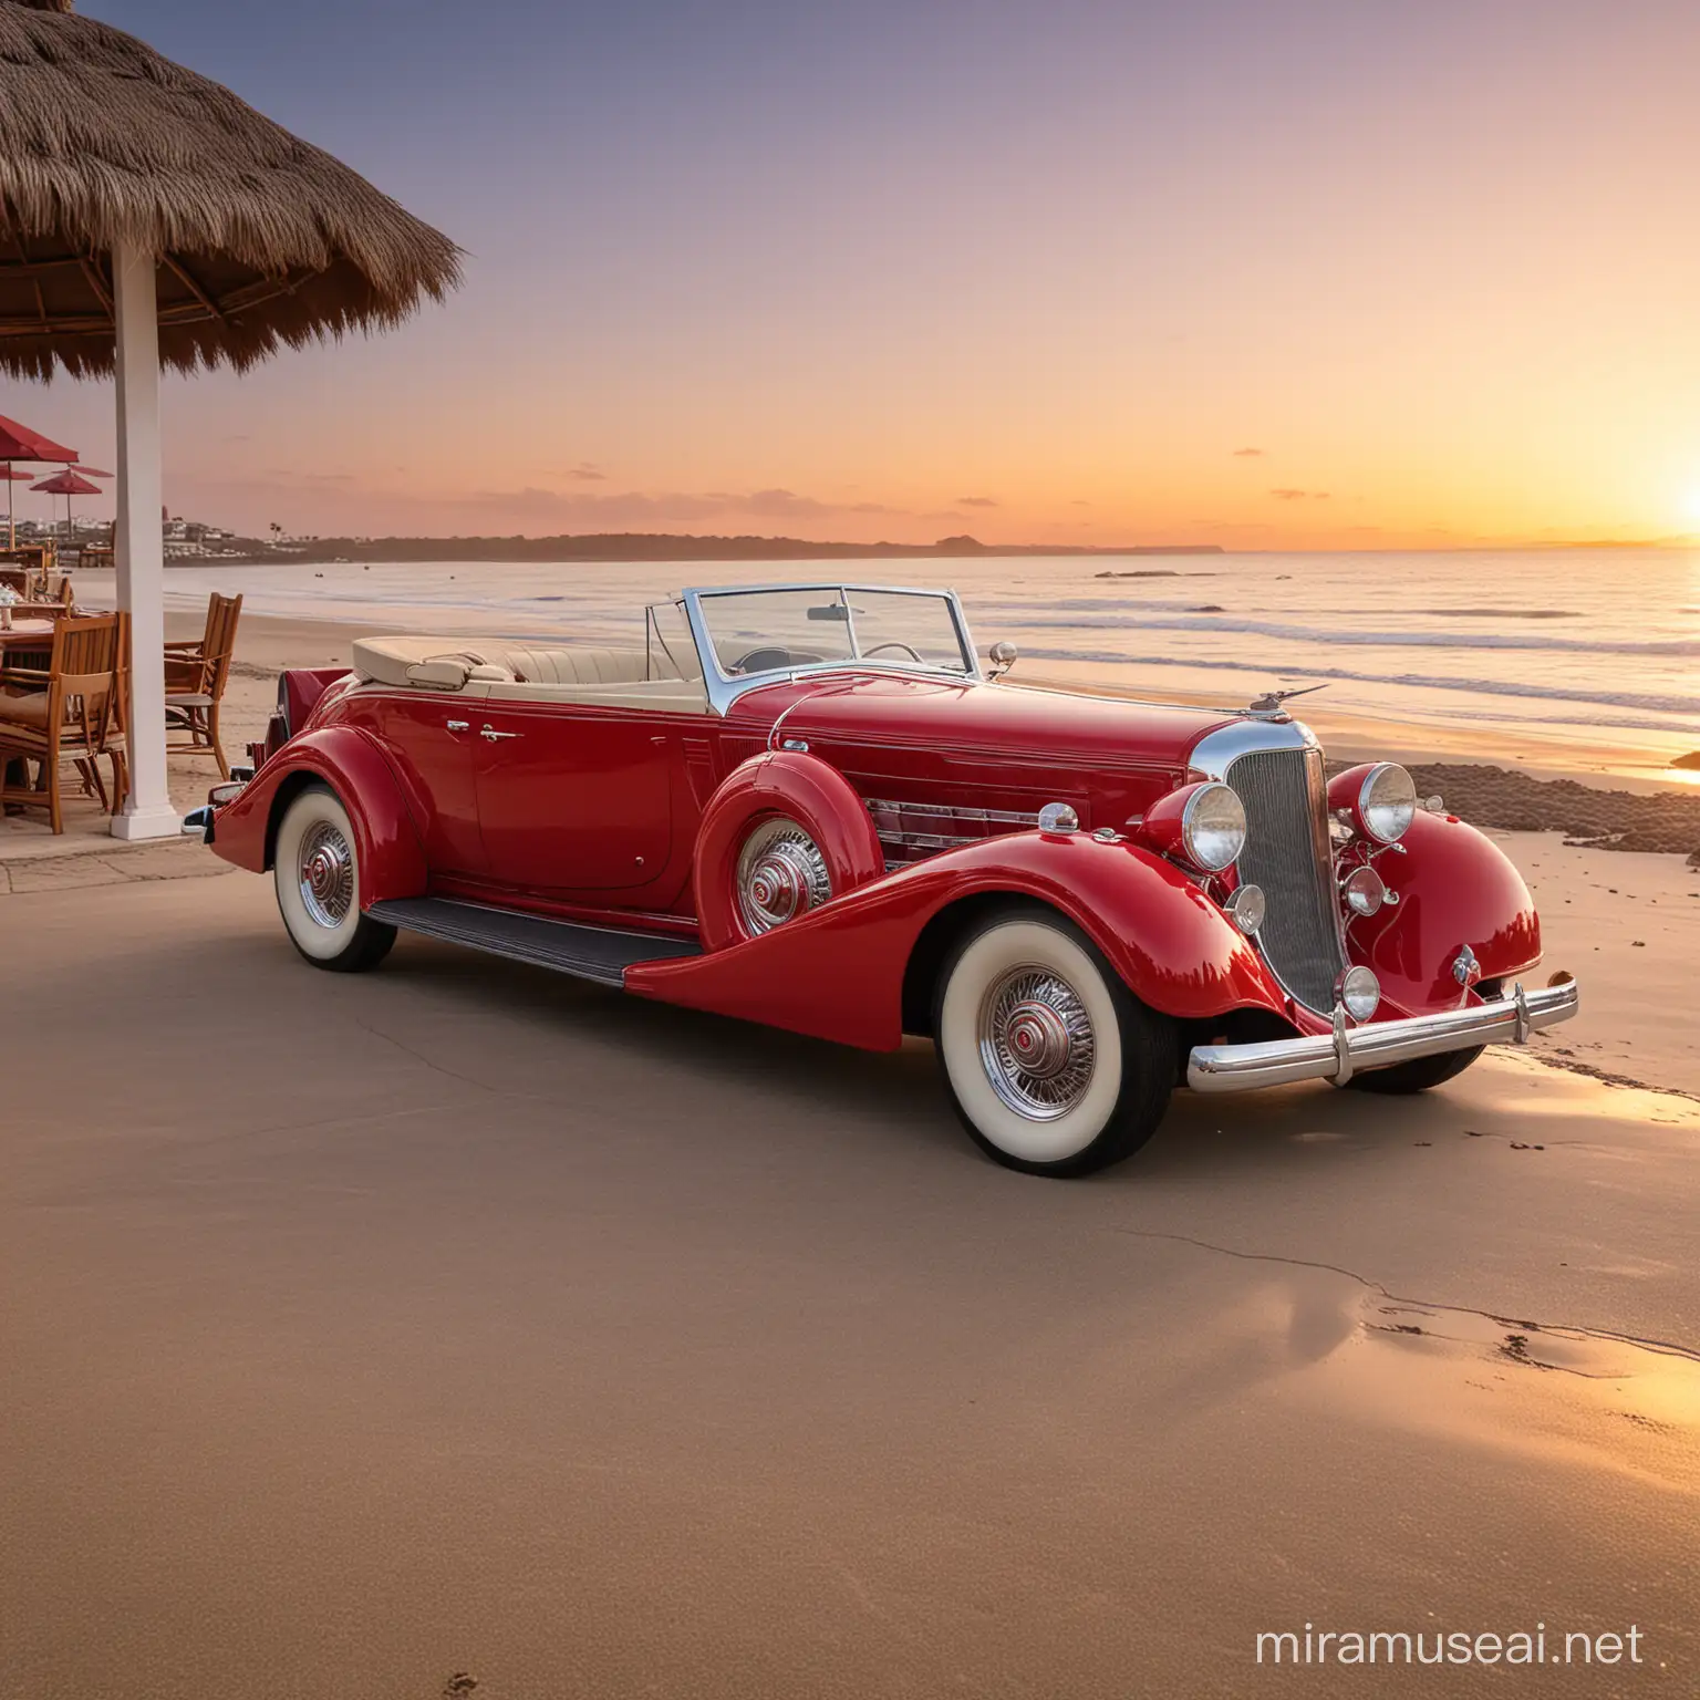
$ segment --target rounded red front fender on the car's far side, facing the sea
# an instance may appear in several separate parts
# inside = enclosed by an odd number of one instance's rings
[[[1508,979],[1540,960],[1540,918],[1523,876],[1474,826],[1418,811],[1399,840],[1404,855],[1382,853],[1377,869],[1399,894],[1350,928],[1352,957],[1380,981],[1382,996],[1413,1015],[1455,1008],[1465,988],[1452,976],[1464,945],[1482,979]]]

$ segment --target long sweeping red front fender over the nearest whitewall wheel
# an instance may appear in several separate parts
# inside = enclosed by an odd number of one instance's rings
[[[1083,833],[945,850],[731,949],[629,967],[626,989],[891,1051],[903,1040],[903,979],[921,932],[947,906],[986,894],[1059,910],[1164,1015],[1285,1008],[1248,940],[1178,869]]]

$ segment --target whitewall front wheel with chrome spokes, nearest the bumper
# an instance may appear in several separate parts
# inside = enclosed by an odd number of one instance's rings
[[[1137,1151],[1175,1083],[1175,1027],[1054,911],[1001,910],[950,950],[933,1037],[962,1125],[1025,1175],[1090,1175]]]

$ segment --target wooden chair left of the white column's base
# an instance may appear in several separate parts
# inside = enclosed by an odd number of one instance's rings
[[[60,620],[46,672],[0,668],[0,692],[22,692],[0,695],[0,806],[44,808],[53,831],[63,833],[60,767],[73,762],[100,806],[109,814],[119,809],[128,782],[117,736],[122,638],[119,614]],[[112,762],[110,797],[100,779],[100,756]],[[31,762],[39,763],[34,785]],[[17,772],[22,784],[14,782]]]

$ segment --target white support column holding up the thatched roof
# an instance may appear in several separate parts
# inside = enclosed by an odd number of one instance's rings
[[[165,782],[165,544],[160,527],[160,309],[153,253],[112,253],[117,304],[117,605],[129,614],[129,797],[114,838],[168,838]]]

